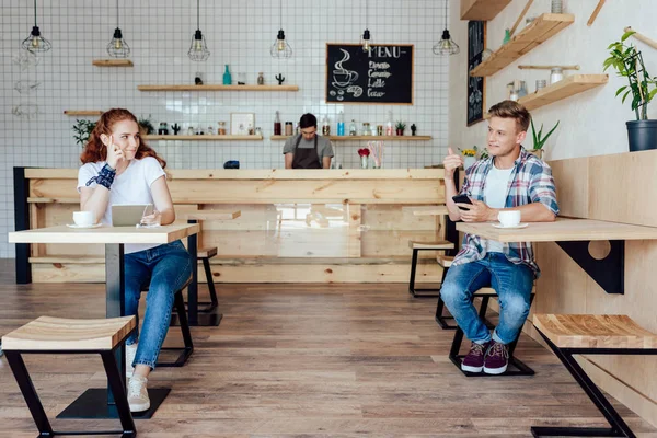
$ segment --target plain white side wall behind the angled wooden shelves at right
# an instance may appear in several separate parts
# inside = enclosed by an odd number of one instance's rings
[[[454,0],[454,5],[456,3]],[[537,79],[550,77],[549,70],[520,70],[518,65],[579,65],[581,67],[579,73],[602,73],[602,62],[608,57],[607,46],[620,39],[625,26],[632,26],[657,39],[656,1],[608,1],[593,25],[589,27],[586,23],[597,3],[598,0],[564,0],[565,12],[575,15],[575,23],[493,77],[486,78],[485,110],[506,99],[506,84],[514,79],[525,80],[531,93],[535,90]],[[526,0],[514,0],[495,20],[488,22],[488,48],[493,50],[499,48],[505,28],[514,25],[526,4]],[[535,0],[527,16],[537,16],[543,12],[550,12],[550,0]],[[450,31],[453,39],[463,49],[452,57],[449,67],[449,142],[459,148],[469,148],[473,145],[483,147],[486,143],[487,122],[481,122],[470,128],[465,126],[468,22],[460,21],[459,15],[458,8],[452,8]],[[525,20],[521,25],[525,25]],[[643,50],[648,72],[653,76],[657,74],[657,50],[634,38],[631,39]],[[566,73],[575,72],[569,70]],[[560,127],[548,140],[545,159],[627,151],[625,122],[634,119],[634,112],[627,102],[622,105],[620,97],[614,97],[615,90],[625,85],[626,79],[616,77],[612,70],[608,70],[608,73],[610,80],[607,85],[532,112],[534,124],[539,126],[543,123],[546,127],[552,127],[556,120],[561,120]],[[648,108],[648,116],[657,117],[657,104]],[[531,148],[532,142],[529,137],[525,146]]]

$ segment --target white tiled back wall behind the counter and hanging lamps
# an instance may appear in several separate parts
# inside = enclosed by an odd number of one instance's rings
[[[457,5],[457,0],[450,0]],[[447,142],[448,61],[435,56],[431,46],[441,35],[442,1],[369,0],[368,26],[373,43],[415,45],[415,104],[327,105],[324,102],[325,44],[358,42],[365,28],[365,0],[283,0],[283,27],[293,49],[288,60],[275,60],[269,47],[279,26],[278,1],[200,1],[200,28],[211,51],[206,62],[193,62],[187,50],[196,30],[193,0],[119,0],[120,28],[130,45],[134,68],[99,68],[92,59],[107,58],[105,46],[116,27],[113,0],[37,1],[38,25],[53,49],[39,57],[35,68],[21,71],[12,58],[33,25],[31,0],[1,0],[0,59],[0,257],[12,257],[13,245],[7,232],[13,230],[12,168],[77,168],[80,146],[71,127],[76,117],[65,110],[107,110],[126,107],[151,120],[187,126],[217,127],[230,120],[231,112],[255,113],[265,141],[176,141],[151,142],[171,169],[217,169],[227,160],[239,160],[243,169],[281,168],[283,142],[270,141],[273,120],[280,111],[283,122],[297,122],[306,112],[318,118],[328,115],[335,130],[336,115],[344,111],[346,122],[355,118],[383,124],[388,111],[394,119],[415,123],[418,135],[433,141],[389,142],[384,168],[420,168],[437,163]],[[463,44],[464,46],[464,44]],[[257,72],[267,83],[283,73],[286,83],[299,92],[140,92],[138,84],[193,83],[201,71],[206,83],[221,83],[224,65],[233,82],[238,73],[254,83]],[[14,90],[19,80],[38,81],[33,94]],[[38,115],[20,118],[12,110],[35,104]],[[348,126],[348,124],[347,124]],[[360,142],[339,142],[337,159],[345,168],[357,165]]]

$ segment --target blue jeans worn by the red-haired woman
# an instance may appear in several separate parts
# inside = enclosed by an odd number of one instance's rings
[[[192,256],[177,240],[126,254],[125,272],[126,315],[137,315],[139,319],[139,298],[141,290],[148,287],[146,314],[132,366],[141,364],[154,369],[169,331],[174,295],[192,275]],[[138,330],[128,337],[126,344],[135,344],[137,336]]]

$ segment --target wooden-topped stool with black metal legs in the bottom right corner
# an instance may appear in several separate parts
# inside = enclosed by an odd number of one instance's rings
[[[533,324],[611,428],[532,427],[532,435],[635,437],[573,355],[657,355],[657,335],[627,315],[535,314]]]

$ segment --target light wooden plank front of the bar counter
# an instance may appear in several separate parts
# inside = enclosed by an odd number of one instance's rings
[[[77,169],[15,168],[16,230],[71,223],[77,177]],[[169,170],[168,180],[178,223],[192,211],[241,211],[201,221],[198,246],[218,249],[218,283],[405,283],[408,241],[448,233],[443,216],[404,208],[445,204],[441,169]],[[103,251],[33,244],[16,263],[35,283],[104,281]],[[439,283],[436,254],[423,257],[417,281]]]

